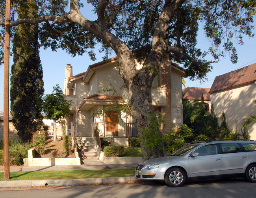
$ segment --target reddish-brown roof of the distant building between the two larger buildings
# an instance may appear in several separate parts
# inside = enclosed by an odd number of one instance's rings
[[[202,94],[204,95],[204,101],[211,101],[209,94],[210,88],[201,87],[187,87],[182,89],[183,100],[201,100]]]

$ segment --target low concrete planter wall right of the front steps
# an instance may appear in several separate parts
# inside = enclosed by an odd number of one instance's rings
[[[100,161],[105,164],[139,164],[142,157],[105,157],[104,152],[100,152]]]

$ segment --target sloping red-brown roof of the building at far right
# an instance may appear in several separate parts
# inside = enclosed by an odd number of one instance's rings
[[[255,81],[256,63],[221,76],[216,76],[213,84],[211,85],[210,94],[247,85]]]

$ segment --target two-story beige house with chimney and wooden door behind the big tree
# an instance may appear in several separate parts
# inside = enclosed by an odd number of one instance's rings
[[[137,65],[140,68],[140,65]],[[117,101],[126,103],[127,89],[119,76],[117,57],[90,65],[86,72],[73,76],[72,66],[65,66],[66,78],[63,93],[73,104],[71,115],[67,118],[67,129],[70,123],[75,126],[76,135],[93,137],[93,124],[97,123],[101,137],[119,138],[127,140],[136,137],[137,130],[133,117],[119,120],[115,124],[117,113],[105,113],[101,117],[93,117],[95,111],[102,110]],[[156,112],[163,112],[165,120],[164,132],[175,129],[176,124],[182,123],[182,77],[185,70],[174,65],[169,60],[162,62],[161,72],[152,84],[152,103]],[[160,86],[159,86],[160,85]],[[120,95],[105,93],[104,88],[113,88]],[[122,97],[121,97],[122,96]],[[161,119],[161,118],[160,118]]]

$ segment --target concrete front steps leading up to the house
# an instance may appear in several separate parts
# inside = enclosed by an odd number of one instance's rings
[[[76,137],[76,145],[81,159],[99,158],[100,147],[94,137]]]

